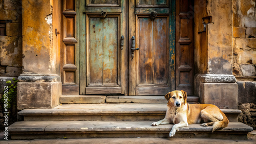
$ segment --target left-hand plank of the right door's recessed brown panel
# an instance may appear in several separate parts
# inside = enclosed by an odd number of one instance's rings
[[[138,38],[139,51],[137,57],[137,84],[153,84],[153,31],[150,18],[139,18]]]

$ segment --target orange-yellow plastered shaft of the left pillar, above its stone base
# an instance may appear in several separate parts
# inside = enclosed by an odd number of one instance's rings
[[[53,46],[52,5],[51,0],[22,1],[24,74],[59,73],[59,50]]]

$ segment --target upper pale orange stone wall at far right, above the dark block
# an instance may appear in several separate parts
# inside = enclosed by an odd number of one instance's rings
[[[255,0],[233,1],[233,75],[256,78]]]

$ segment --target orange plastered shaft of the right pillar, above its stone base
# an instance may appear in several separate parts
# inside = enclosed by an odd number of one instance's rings
[[[195,63],[196,74],[232,74],[230,0],[195,0]]]

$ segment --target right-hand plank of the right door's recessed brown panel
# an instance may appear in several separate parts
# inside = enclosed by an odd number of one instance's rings
[[[167,18],[154,20],[154,84],[167,84]]]

